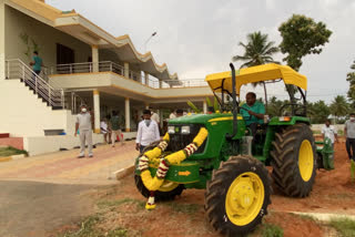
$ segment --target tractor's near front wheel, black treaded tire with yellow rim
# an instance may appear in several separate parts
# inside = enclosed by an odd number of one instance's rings
[[[222,235],[243,236],[267,214],[271,179],[263,163],[252,156],[222,162],[206,186],[206,219]]]

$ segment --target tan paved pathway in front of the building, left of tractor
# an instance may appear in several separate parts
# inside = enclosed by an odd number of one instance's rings
[[[57,184],[114,184],[113,173],[134,163],[134,142],[101,145],[93,158],[77,158],[79,150],[37,155],[0,163],[0,181],[37,181]]]

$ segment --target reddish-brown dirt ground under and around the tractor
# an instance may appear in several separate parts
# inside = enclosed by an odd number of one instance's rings
[[[272,205],[264,224],[280,226],[284,236],[334,236],[332,231],[312,220],[290,212],[334,213],[355,215],[355,184],[351,174],[345,144],[335,144],[335,169],[317,171],[312,194],[306,198],[288,198],[274,188]],[[112,229],[124,229],[122,236],[194,237],[220,236],[211,229],[204,218],[204,190],[187,189],[174,202],[159,203],[154,210],[144,209],[145,198],[135,189],[133,176],[102,193],[97,193],[100,221],[97,228],[109,234]],[[65,228],[60,229],[62,233]],[[261,227],[262,228],[262,227]],[[251,236],[260,236],[261,228]]]

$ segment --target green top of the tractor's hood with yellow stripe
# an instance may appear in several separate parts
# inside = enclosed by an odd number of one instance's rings
[[[227,120],[233,120],[232,113],[191,114],[182,117],[172,118],[169,121],[169,124],[206,124],[207,122]],[[242,117],[239,116],[237,120],[242,120]]]

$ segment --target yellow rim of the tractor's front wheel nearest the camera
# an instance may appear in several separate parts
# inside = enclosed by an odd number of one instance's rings
[[[265,198],[264,184],[257,174],[246,172],[231,184],[225,197],[229,219],[237,226],[245,226],[258,215]]]

